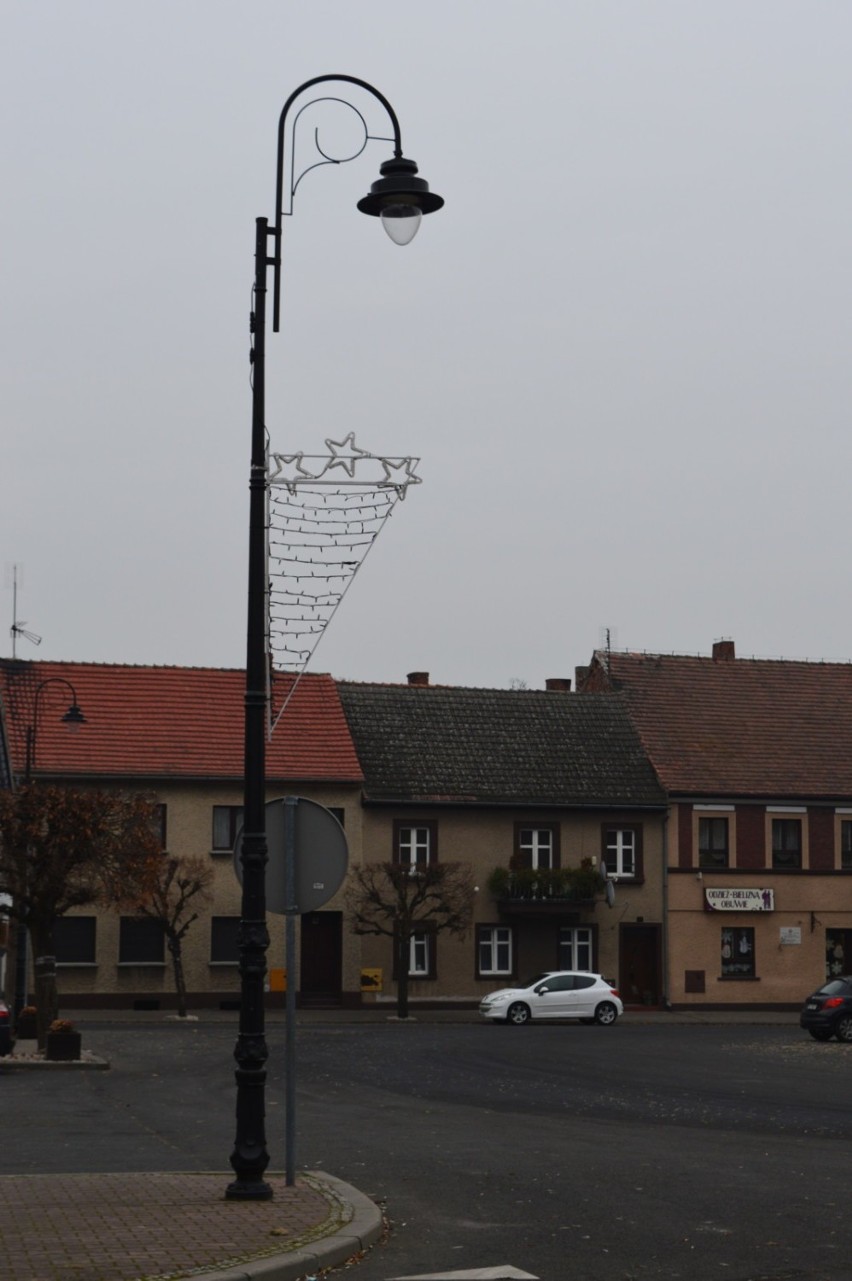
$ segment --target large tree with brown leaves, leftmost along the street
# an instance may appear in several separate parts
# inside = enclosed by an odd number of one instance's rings
[[[0,893],[29,931],[38,1044],[56,1017],[55,925],[73,907],[141,893],[159,857],[154,806],[142,796],[32,783],[0,790]]]

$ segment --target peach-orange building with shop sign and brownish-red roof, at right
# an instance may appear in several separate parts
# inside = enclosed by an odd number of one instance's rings
[[[798,1007],[852,971],[852,665],[597,652],[669,801],[675,1008]]]

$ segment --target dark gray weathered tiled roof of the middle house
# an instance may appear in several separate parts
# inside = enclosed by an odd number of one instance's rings
[[[620,698],[338,681],[372,801],[655,806]]]

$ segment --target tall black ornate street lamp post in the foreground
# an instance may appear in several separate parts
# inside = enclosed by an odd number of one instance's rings
[[[269,1164],[265,1138],[264,1089],[266,1081],[266,1041],[264,1024],[264,977],[266,974],[266,831],[265,831],[265,770],[266,770],[266,708],[268,708],[268,649],[266,649],[266,424],[265,424],[265,348],[266,348],[266,268],[273,268],[273,332],[278,332],[281,314],[281,236],[282,219],[292,213],[296,184],[292,163],[290,208],[283,208],[284,188],[284,131],[290,109],[306,90],[329,81],[355,85],[372,94],[384,108],[393,131],[393,156],[381,167],[381,177],[370,192],[359,201],[361,213],[382,219],[388,234],[397,245],[407,243],[415,234],[423,214],[430,214],[443,205],[441,196],[429,191],[423,178],[418,178],[414,160],[402,155],[400,124],[387,99],[354,76],[316,76],[290,95],[278,122],[278,168],[275,184],[275,222],[270,228],[265,218],[256,220],[255,233],[255,310],[251,315],[254,348],[252,412],[251,412],[251,473],[249,480],[249,601],[246,633],[246,696],[245,696],[245,790],[242,833],[242,906],[240,920],[240,1034],[234,1048],[237,1061],[237,1132],[231,1164],[236,1180],[227,1187],[229,1199],[268,1200],[272,1187],[264,1179]],[[311,101],[323,101],[325,97]],[[332,99],[351,108],[364,124],[364,143],[347,156],[354,160],[368,141],[379,141],[366,129],[364,118],[346,99]],[[305,104],[307,106],[310,104]],[[304,109],[304,108],[302,108]],[[301,114],[301,111],[299,113]],[[296,115],[296,119],[299,118]],[[295,128],[295,123],[293,123]],[[319,150],[319,145],[318,145]],[[324,164],[341,164],[320,151]],[[301,175],[300,175],[301,178]],[[272,256],[269,242],[272,240]],[[295,975],[287,976],[288,983]]]

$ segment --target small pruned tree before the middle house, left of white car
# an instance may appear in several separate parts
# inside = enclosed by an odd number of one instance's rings
[[[464,938],[474,883],[466,863],[365,863],[350,872],[346,906],[355,934],[393,940],[397,1016],[409,1017],[411,935],[420,930]]]

